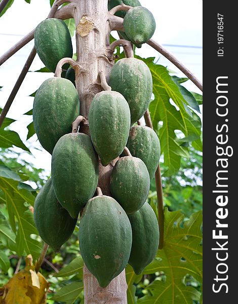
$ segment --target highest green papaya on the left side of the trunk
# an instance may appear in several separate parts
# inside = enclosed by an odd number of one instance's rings
[[[57,63],[64,57],[73,56],[71,36],[64,21],[49,18],[35,28],[34,45],[39,58],[54,73]],[[69,64],[64,64],[67,69]]]

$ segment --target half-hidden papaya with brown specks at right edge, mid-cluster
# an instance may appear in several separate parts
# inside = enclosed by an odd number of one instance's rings
[[[127,147],[132,156],[138,157],[145,163],[151,180],[161,156],[161,145],[157,134],[149,127],[134,126],[130,129]]]

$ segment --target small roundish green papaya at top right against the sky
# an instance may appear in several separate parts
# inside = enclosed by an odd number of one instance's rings
[[[156,24],[152,13],[146,8],[138,6],[127,11],[123,26],[129,40],[137,48],[141,48],[141,45],[152,37]]]

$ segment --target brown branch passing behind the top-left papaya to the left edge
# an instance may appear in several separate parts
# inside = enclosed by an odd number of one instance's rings
[[[74,4],[70,3],[58,11],[56,11],[54,17],[58,19],[69,19],[72,18],[72,10],[74,8]],[[55,10],[55,7],[52,9]],[[52,18],[52,16],[48,16],[48,18]],[[17,51],[19,51],[22,47],[24,47],[28,42],[30,42],[34,38],[35,28],[32,29],[26,36],[24,36],[18,43],[16,43],[11,49],[9,49],[5,54],[0,57],[0,65],[2,65],[6,60],[8,60],[12,55],[14,55]]]

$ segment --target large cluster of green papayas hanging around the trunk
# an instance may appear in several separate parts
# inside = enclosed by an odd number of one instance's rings
[[[52,71],[57,60],[71,54],[66,28],[54,18],[36,28],[36,51]],[[57,33],[64,31],[59,34],[60,43],[43,39],[56,29]],[[67,54],[59,47],[63,43]],[[36,228],[57,251],[71,236],[82,212],[81,254],[103,288],[127,263],[140,274],[155,257],[159,239],[157,219],[146,200],[160,159],[160,141],[152,129],[135,125],[150,102],[150,70],[136,58],[118,60],[109,85],[111,90],[97,93],[90,105],[90,136],[71,133],[71,124],[80,115],[80,100],[68,79],[46,80],[33,103],[38,140],[52,154],[51,178],[35,199]],[[107,166],[115,159],[111,196],[105,196],[97,188],[99,162]]]

